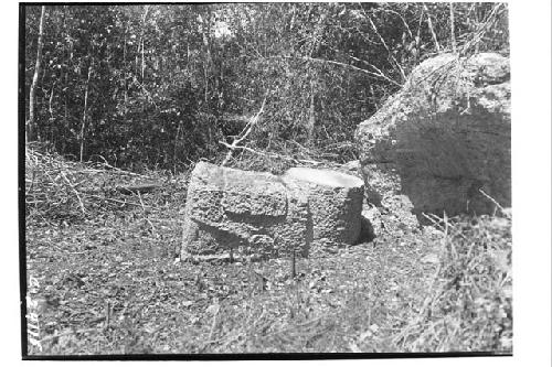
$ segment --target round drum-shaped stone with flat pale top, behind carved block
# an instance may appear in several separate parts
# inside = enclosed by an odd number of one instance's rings
[[[361,233],[364,183],[359,177],[330,170],[293,168],[286,183],[300,181],[308,192],[314,247],[354,244]]]

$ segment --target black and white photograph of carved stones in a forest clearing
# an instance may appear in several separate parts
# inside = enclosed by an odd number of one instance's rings
[[[19,12],[23,359],[512,356],[509,3]]]

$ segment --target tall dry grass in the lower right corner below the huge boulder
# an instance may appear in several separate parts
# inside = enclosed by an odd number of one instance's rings
[[[395,342],[410,352],[512,353],[511,216],[437,219],[439,266]]]

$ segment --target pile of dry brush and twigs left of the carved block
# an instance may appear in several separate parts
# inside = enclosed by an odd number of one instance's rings
[[[155,188],[142,197],[135,187]],[[130,190],[129,190],[130,188]],[[25,148],[28,222],[84,220],[131,208],[153,211],[168,199],[184,201],[185,175],[148,171],[138,174],[104,162],[73,162],[32,143]]]

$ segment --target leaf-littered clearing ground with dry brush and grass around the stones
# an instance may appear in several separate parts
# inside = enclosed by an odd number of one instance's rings
[[[234,165],[287,164],[253,156]],[[42,346],[30,355],[512,352],[508,212],[390,225],[298,260],[291,278],[290,259],[179,261],[187,177],[28,147],[29,311]],[[115,188],[145,182],[160,187]]]

